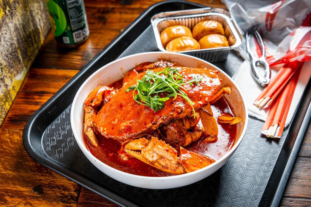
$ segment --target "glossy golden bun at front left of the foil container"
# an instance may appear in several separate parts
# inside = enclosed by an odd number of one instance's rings
[[[192,37],[179,37],[170,41],[166,45],[165,49],[168,52],[180,52],[188,50],[199,50],[201,47],[197,40],[193,39]]]

